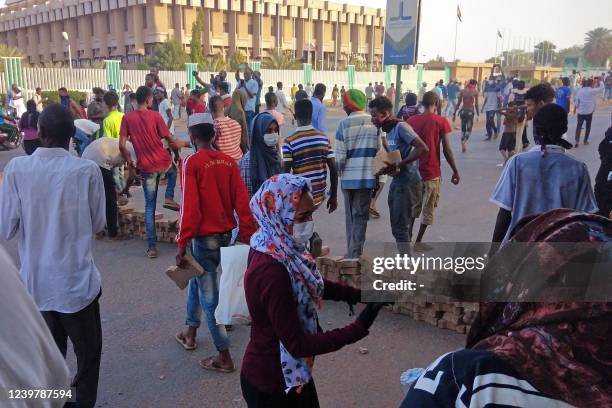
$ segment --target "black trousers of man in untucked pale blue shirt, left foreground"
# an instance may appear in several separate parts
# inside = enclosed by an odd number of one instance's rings
[[[99,298],[100,295],[76,313],[41,312],[64,357],[68,338],[72,342],[77,357],[77,373],[72,380],[72,387],[76,387],[76,402],[81,408],[93,408],[98,395],[102,356]]]

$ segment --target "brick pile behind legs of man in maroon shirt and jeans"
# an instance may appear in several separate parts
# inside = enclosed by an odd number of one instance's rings
[[[157,242],[173,243],[178,233],[178,217],[164,218],[160,212],[155,213],[155,230]],[[119,207],[119,233],[129,238],[147,239],[144,222],[144,211],[131,207]]]

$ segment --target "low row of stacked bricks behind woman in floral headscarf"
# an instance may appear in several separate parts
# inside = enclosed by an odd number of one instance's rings
[[[368,263],[360,259],[347,259],[341,256],[321,256],[317,266],[322,276],[334,282],[342,282],[361,289],[362,268]],[[476,296],[480,276],[456,275],[453,272],[428,272],[419,275],[417,281],[425,285],[420,295],[402,293],[390,309],[409,316],[417,321],[426,322],[441,329],[465,334],[469,331],[478,314],[478,302],[456,302],[458,297]],[[429,294],[427,288],[435,288],[435,294]],[[474,293],[468,293],[474,292]],[[473,297],[476,299],[476,297]]]

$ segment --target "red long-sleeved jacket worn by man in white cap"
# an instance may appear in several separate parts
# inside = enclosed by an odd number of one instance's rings
[[[180,228],[176,236],[179,248],[192,238],[229,232],[236,227],[238,213],[240,238],[249,242],[255,222],[249,207],[249,194],[240,177],[238,164],[216,150],[200,150],[182,163],[183,198]]]

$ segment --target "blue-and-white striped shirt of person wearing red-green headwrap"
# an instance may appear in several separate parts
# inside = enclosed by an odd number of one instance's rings
[[[336,129],[336,161],[345,190],[374,188],[372,159],[378,152],[378,129],[369,114],[352,112]]]

